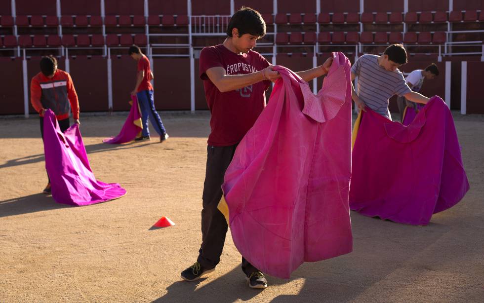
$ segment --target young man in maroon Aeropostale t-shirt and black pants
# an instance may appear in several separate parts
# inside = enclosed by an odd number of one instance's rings
[[[237,145],[266,106],[265,91],[271,81],[280,77],[264,57],[252,50],[256,40],[265,34],[260,14],[242,7],[230,19],[225,41],[205,47],[200,53],[200,77],[211,113],[211,132],[202,196],[202,245],[197,262],[181,273],[187,281],[212,272],[220,261],[228,227],[217,209],[225,171]],[[331,63],[332,58],[323,66],[297,74],[309,81],[326,74]],[[243,257],[242,271],[249,287],[267,287],[264,274]]]

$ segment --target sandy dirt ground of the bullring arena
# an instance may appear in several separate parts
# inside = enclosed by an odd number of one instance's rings
[[[221,263],[180,280],[201,242],[207,113],[162,113],[170,138],[111,146],[123,115],[81,117],[97,179],[121,199],[57,204],[36,117],[0,119],[0,302],[484,302],[484,117],[455,114],[471,189],[426,227],[352,212],[354,251],[249,289],[227,234]],[[153,134],[153,131],[152,131]],[[175,227],[151,229],[167,216]]]

